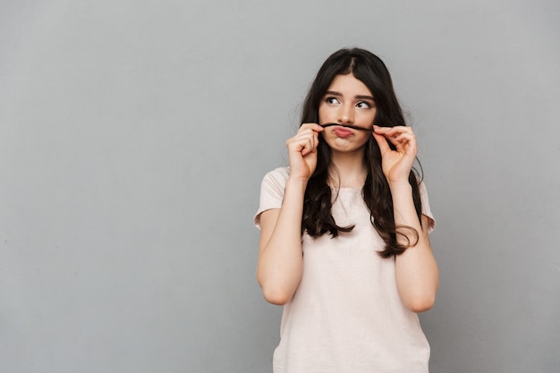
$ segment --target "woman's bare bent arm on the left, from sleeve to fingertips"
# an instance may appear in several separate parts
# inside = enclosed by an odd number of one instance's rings
[[[257,280],[267,301],[283,305],[290,301],[300,284],[301,216],[307,182],[317,165],[318,132],[315,123],[301,125],[298,133],[286,141],[290,175],[286,181],[281,208],[260,215],[259,262]]]

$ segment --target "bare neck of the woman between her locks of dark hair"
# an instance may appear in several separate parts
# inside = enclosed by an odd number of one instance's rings
[[[363,149],[353,153],[331,153],[328,183],[334,188],[361,188],[368,174],[363,153]]]

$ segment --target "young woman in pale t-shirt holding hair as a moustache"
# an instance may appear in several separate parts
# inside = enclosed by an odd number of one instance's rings
[[[363,49],[328,57],[268,173],[255,224],[257,277],[284,305],[276,373],[425,373],[417,312],[436,299],[435,221],[385,64]]]

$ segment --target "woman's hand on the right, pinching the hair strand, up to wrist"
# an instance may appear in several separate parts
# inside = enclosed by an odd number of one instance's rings
[[[412,165],[416,159],[418,148],[416,136],[411,127],[397,125],[395,127],[373,126],[373,137],[381,150],[383,174],[389,184],[407,182]],[[389,147],[395,145],[395,150]]]

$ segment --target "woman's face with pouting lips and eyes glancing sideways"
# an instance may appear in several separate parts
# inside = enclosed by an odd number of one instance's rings
[[[371,91],[352,73],[336,75],[318,106],[319,124],[351,124],[371,129],[376,116]],[[327,127],[323,138],[333,151],[362,151],[371,138],[370,131],[358,131],[343,126]]]

